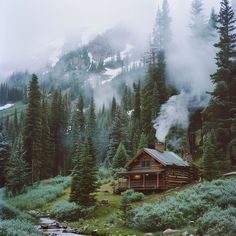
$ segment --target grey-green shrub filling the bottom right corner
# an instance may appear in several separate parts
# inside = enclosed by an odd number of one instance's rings
[[[222,210],[215,207],[206,212],[198,221],[198,233],[208,236],[236,235],[236,209]]]

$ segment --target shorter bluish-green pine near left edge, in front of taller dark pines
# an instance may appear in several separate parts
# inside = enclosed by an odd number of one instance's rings
[[[29,184],[29,167],[24,160],[24,149],[22,137],[16,139],[11,157],[6,166],[6,188],[9,195],[21,193],[25,186]]]

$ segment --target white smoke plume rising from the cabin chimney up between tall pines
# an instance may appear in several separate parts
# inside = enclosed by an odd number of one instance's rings
[[[154,121],[156,138],[164,142],[166,135],[173,126],[187,128],[190,111],[208,104],[213,85],[210,75],[216,70],[214,40],[193,38],[189,24],[191,1],[184,2],[184,8],[169,0],[172,17],[172,45],[166,52],[167,73],[170,84],[179,91],[172,96],[160,110],[160,115]],[[183,1],[182,1],[183,2]],[[204,1],[205,3],[205,1]],[[185,14],[183,10],[184,9]],[[214,5],[205,5],[204,14],[208,17],[211,7],[218,9],[218,1]],[[187,15],[188,17],[183,17]]]

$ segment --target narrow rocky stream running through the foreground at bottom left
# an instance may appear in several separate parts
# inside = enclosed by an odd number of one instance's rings
[[[39,231],[51,236],[83,236],[78,229],[71,229],[66,224],[58,223],[57,221],[41,217],[37,225]]]

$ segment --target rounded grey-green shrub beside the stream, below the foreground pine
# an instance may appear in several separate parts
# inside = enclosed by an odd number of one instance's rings
[[[58,220],[77,220],[81,215],[81,207],[74,202],[61,200],[51,207],[49,213]]]

